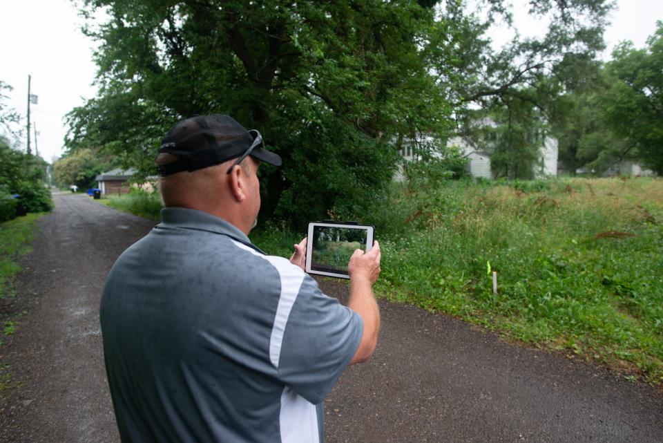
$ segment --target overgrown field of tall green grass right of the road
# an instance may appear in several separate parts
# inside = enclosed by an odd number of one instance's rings
[[[663,383],[663,180],[394,184],[385,199],[354,217],[376,227],[379,296]],[[251,239],[289,256],[305,229]]]

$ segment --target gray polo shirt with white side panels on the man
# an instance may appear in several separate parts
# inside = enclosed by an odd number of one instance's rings
[[[323,442],[361,317],[224,220],[166,208],[101,303],[122,442]]]

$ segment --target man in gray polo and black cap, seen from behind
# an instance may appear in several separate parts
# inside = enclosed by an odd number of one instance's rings
[[[375,349],[380,248],[349,263],[348,308],[247,235],[260,209],[258,131],[224,115],[166,134],[162,223],[117,259],[102,295],[123,442],[322,442],[323,399]]]

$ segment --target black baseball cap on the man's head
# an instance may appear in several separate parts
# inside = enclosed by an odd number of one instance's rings
[[[281,165],[278,154],[265,149],[262,135],[256,129],[247,131],[233,117],[219,114],[197,115],[175,123],[166,133],[159,153],[179,157],[157,166],[162,177],[215,166],[233,158],[239,158],[238,164],[247,155],[274,166]]]

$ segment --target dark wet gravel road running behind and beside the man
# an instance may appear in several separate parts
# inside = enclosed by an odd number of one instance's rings
[[[110,443],[117,431],[99,335],[115,258],[154,225],[81,195],[55,196],[0,314],[0,352],[21,387],[0,401],[0,442]],[[347,286],[323,282],[345,299]],[[500,342],[456,319],[381,303],[374,358],[325,402],[327,443],[663,442],[660,390],[559,355]],[[25,314],[21,314],[25,312]]]

